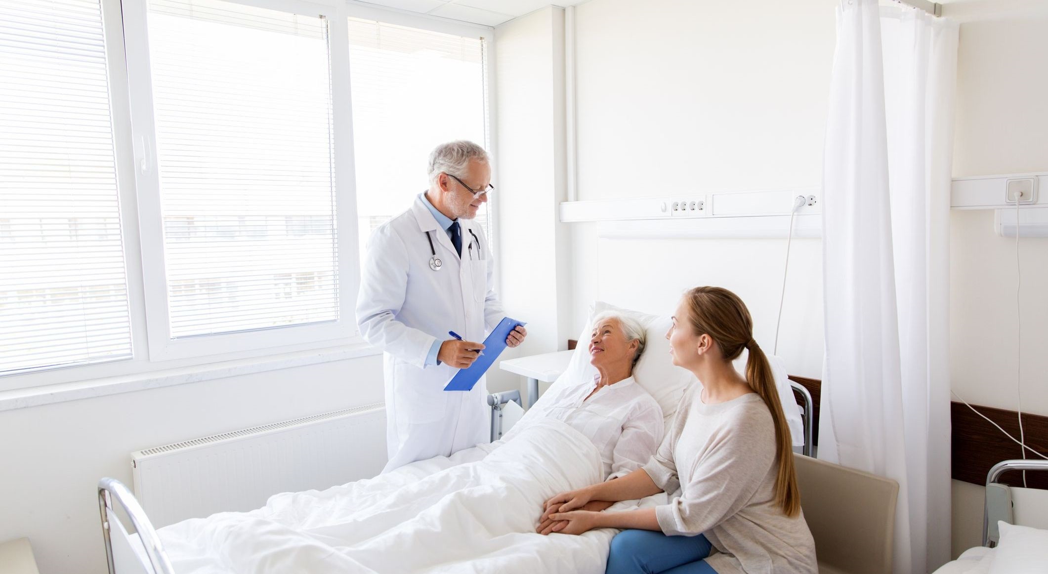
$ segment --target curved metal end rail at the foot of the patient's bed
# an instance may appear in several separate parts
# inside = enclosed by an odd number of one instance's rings
[[[141,540],[143,548],[146,550],[148,562],[141,556],[135,554],[143,562],[143,572],[148,574],[175,574],[175,569],[171,566],[171,560],[163,552],[163,546],[160,544],[160,537],[156,534],[156,529],[149,522],[146,511],[143,510],[141,505],[138,504],[134,494],[121,481],[105,478],[99,481],[99,510],[102,513],[102,536],[106,544],[106,560],[109,564],[109,574],[123,574],[123,572],[116,572],[116,561],[118,560],[114,560],[112,534],[115,530],[118,536],[128,536],[119,525],[114,525],[111,522],[118,520],[115,512],[113,512],[114,503],[131,518],[135,535]]]

